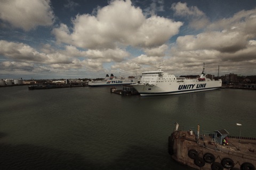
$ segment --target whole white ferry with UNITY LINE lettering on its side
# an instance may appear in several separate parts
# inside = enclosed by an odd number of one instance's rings
[[[221,79],[206,78],[205,69],[199,78],[189,79],[164,72],[161,65],[157,71],[142,72],[140,82],[132,86],[140,95],[170,95],[215,90],[221,83]]]

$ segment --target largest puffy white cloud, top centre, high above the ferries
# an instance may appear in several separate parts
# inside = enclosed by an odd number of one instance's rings
[[[70,33],[63,23],[52,33],[59,43],[82,48],[116,48],[120,45],[157,47],[178,34],[182,22],[152,16],[145,18],[142,10],[130,0],[113,1],[98,9],[97,16],[77,15]]]

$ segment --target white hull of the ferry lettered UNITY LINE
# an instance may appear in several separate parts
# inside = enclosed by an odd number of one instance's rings
[[[146,95],[172,95],[216,90],[221,87],[221,80],[195,81],[195,82],[163,82],[158,84],[132,84],[142,96]]]

